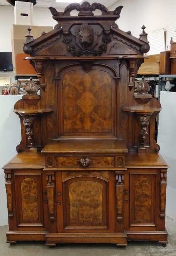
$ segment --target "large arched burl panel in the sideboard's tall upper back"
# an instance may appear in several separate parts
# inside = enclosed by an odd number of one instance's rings
[[[112,81],[101,70],[69,71],[63,76],[64,134],[112,132]]]

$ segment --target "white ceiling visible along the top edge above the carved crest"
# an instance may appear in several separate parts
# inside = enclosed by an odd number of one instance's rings
[[[56,8],[57,7],[58,8],[65,8],[67,5],[70,4],[70,3],[58,3],[55,0],[36,0],[36,1],[37,1],[37,4],[34,5],[34,8],[35,7],[50,7],[50,6],[56,7]],[[90,4],[95,2],[95,0],[88,0],[88,1],[89,1]],[[101,0],[101,4],[105,5],[108,8],[111,5],[113,5],[114,3],[116,3],[117,1],[118,0]],[[77,0],[75,0],[75,3],[76,2],[77,2]],[[99,1],[97,1],[97,2],[99,2]],[[10,5],[10,4],[6,0],[0,0],[0,5]]]

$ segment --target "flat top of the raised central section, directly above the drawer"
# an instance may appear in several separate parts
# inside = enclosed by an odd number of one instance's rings
[[[44,154],[127,154],[124,140],[118,139],[61,139],[51,140]]]

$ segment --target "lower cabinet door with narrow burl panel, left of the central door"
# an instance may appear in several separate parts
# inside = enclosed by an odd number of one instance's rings
[[[38,171],[37,171],[38,172]],[[17,227],[44,229],[42,173],[14,173]]]

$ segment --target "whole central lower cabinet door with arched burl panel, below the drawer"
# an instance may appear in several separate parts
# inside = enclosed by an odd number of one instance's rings
[[[113,180],[108,171],[57,173],[58,232],[114,232]]]

